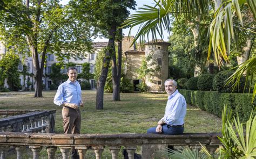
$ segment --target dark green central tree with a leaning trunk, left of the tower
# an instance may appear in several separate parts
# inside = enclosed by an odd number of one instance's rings
[[[104,86],[106,83],[107,72],[111,58],[116,56],[114,40],[116,39],[117,27],[129,16],[129,9],[134,9],[134,0],[95,0],[81,1],[80,8],[92,21],[95,30],[98,30],[106,38],[109,43],[106,47],[106,53],[103,59],[102,71],[97,82],[96,109],[103,109]],[[88,6],[91,6],[88,8]],[[116,63],[113,63],[116,64]],[[114,66],[114,68],[116,68]],[[116,69],[113,70],[116,74]]]

